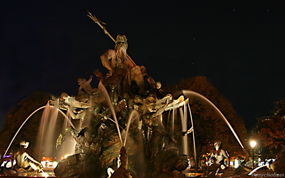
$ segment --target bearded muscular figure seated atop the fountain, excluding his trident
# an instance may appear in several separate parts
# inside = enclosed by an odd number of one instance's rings
[[[144,75],[139,66],[130,64],[127,57],[127,38],[118,35],[115,41],[115,49],[109,49],[101,55],[103,66],[109,71],[104,80],[104,85],[109,89],[109,95],[113,106],[117,103],[118,95],[128,93],[132,81],[135,81],[142,95],[147,95],[144,88]],[[123,90],[123,91],[122,91]]]

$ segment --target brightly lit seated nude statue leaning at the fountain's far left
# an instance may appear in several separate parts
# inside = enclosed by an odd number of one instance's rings
[[[12,156],[12,169],[14,169],[14,159],[16,159],[17,166],[19,166],[19,171],[20,169],[23,168],[29,168],[28,170],[25,171],[41,171],[42,170],[42,165],[36,161],[32,156],[27,152],[27,148],[29,146],[28,141],[22,141],[20,142],[20,147],[15,148],[13,150],[13,156]],[[30,166],[30,167],[29,167]]]

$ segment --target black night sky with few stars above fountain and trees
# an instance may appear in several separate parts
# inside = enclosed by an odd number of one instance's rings
[[[0,128],[33,91],[76,95],[79,77],[106,74],[100,55],[115,45],[87,11],[127,36],[127,53],[162,87],[209,78],[247,129],[285,97],[282,1],[1,0]]]

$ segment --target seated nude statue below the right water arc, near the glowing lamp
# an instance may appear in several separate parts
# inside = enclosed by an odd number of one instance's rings
[[[225,158],[227,158],[228,167],[230,167],[229,155],[224,148],[220,147],[220,145],[221,141],[215,140],[214,141],[215,149],[213,149],[213,151],[211,152],[208,161],[206,163],[202,163],[202,169],[205,174],[209,173],[208,175],[215,176],[219,168],[224,169]]]

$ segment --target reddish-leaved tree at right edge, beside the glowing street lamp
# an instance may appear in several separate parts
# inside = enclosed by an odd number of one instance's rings
[[[275,102],[272,116],[257,118],[252,137],[264,159],[275,158],[285,146],[285,98]]]

